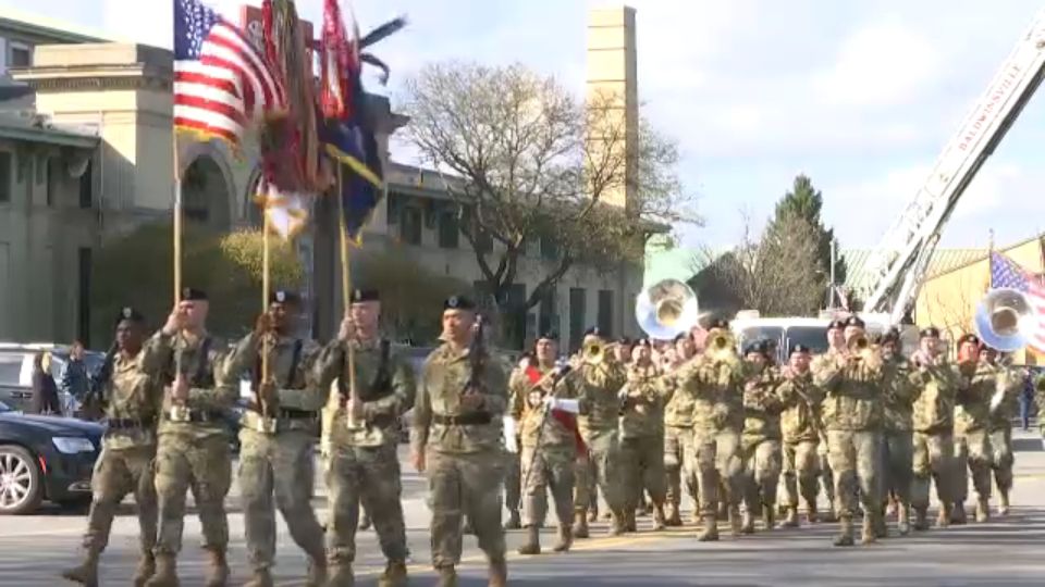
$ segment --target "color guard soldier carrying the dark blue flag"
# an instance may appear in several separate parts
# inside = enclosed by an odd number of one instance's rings
[[[327,463],[330,587],[354,584],[352,563],[356,557],[360,501],[370,513],[388,561],[379,585],[398,587],[407,580],[396,430],[399,416],[414,404],[415,382],[406,360],[379,337],[380,317],[379,294],[353,290],[337,338],[323,348],[316,361],[320,389],[331,389],[336,379],[331,392],[337,408],[331,417]]]

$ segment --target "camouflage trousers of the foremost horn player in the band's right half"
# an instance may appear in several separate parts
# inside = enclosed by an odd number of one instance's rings
[[[827,430],[827,459],[835,476],[835,511],[851,517],[857,496],[864,511],[882,507],[882,433]]]

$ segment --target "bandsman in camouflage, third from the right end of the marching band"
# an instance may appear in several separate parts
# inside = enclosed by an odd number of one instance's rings
[[[914,507],[914,529],[929,529],[929,486],[936,482],[939,515],[936,525],[950,523],[954,502],[955,403],[960,380],[955,366],[943,357],[939,329],[930,326],[920,334],[919,350],[911,357],[911,374],[918,386],[914,401],[914,483],[911,505]]]

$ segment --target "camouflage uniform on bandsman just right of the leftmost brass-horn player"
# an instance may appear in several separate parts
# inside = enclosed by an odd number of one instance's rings
[[[664,527],[664,403],[674,387],[665,387],[654,365],[628,367],[620,414],[620,478],[624,482],[624,515],[635,529],[635,510],[643,489],[653,502],[654,527]]]

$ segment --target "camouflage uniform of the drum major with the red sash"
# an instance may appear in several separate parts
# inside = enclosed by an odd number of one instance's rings
[[[561,380],[552,388],[552,369],[536,367],[542,379],[538,382],[544,396],[554,394],[560,399],[577,396],[570,379]],[[540,527],[548,511],[548,490],[551,489],[558,519],[560,542],[556,551],[567,550],[573,541],[574,514],[574,462],[577,459],[577,432],[569,428],[555,412],[546,413],[546,407],[530,405],[528,396],[533,384],[521,373],[512,379],[512,417],[519,423],[521,448],[522,525],[528,532],[528,541],[519,549],[522,554],[541,551]],[[565,419],[564,419],[565,420]],[[567,420],[568,422],[568,420]],[[543,428],[542,428],[543,424]],[[576,422],[574,422],[576,426]]]

